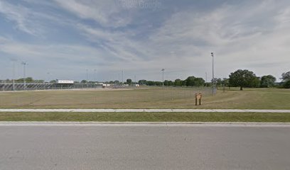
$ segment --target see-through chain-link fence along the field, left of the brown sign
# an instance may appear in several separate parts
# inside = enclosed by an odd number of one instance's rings
[[[79,89],[73,89],[74,87]],[[213,88],[113,86],[102,89],[99,86],[80,84],[56,86],[56,90],[0,92],[0,108],[186,108],[193,106],[195,94],[199,93],[211,96]]]

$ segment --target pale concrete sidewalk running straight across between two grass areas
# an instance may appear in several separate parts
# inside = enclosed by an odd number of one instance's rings
[[[2,108],[0,112],[92,112],[92,113],[100,113],[100,112],[224,112],[224,113],[290,113],[290,110],[268,110],[268,109],[42,109],[42,108]]]

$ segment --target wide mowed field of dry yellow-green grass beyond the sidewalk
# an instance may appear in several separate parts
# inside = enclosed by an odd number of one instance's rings
[[[195,93],[203,92],[195,106]],[[218,90],[140,88],[127,90],[0,92],[0,108],[239,108],[290,109],[289,89]]]

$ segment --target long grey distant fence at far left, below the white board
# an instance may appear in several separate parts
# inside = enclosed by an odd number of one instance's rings
[[[102,88],[101,84],[50,84],[50,83],[0,83],[0,91],[23,90],[60,90],[60,89],[95,89]]]

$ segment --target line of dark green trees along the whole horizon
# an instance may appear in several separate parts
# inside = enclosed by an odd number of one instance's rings
[[[32,77],[27,77],[26,82],[38,82],[43,83],[44,80],[37,80],[33,79]],[[12,80],[0,80],[0,82],[11,83]],[[16,83],[22,83],[22,79],[16,79]],[[97,82],[97,81],[96,81]],[[55,80],[50,81],[50,83],[55,83]],[[75,81],[75,83],[79,83]],[[82,80],[80,83],[95,83],[95,81]],[[122,82],[115,80],[115,81],[106,81],[107,84],[122,84]],[[165,80],[162,81],[148,81],[145,79],[141,79],[138,82],[133,82],[131,79],[127,79],[127,84],[140,84],[140,85],[147,85],[147,86],[211,86],[213,83],[219,86],[232,86],[232,87],[240,87],[242,90],[245,87],[254,87],[254,88],[268,88],[268,87],[281,87],[290,89],[290,72],[284,72],[281,74],[281,82],[276,83],[276,78],[272,75],[264,75],[262,77],[257,77],[254,72],[249,71],[247,69],[238,69],[235,72],[230,73],[229,78],[215,78],[212,79],[211,82],[205,82],[205,80],[201,77],[194,77],[190,76],[187,79],[176,79],[175,81]]]

